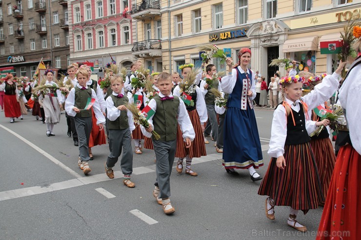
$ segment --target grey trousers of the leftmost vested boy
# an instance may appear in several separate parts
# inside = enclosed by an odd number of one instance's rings
[[[92,117],[74,117],[75,129],[77,129],[79,140],[79,156],[81,161],[88,162],[89,138],[92,131]]]

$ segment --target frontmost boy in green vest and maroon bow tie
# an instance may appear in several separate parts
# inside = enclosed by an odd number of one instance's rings
[[[152,137],[157,158],[157,180],[154,184],[156,187],[153,191],[153,196],[157,199],[157,202],[163,206],[165,214],[175,212],[169,197],[170,174],[177,149],[178,124],[183,133],[183,139],[187,148],[191,146],[196,136],[183,101],[180,101],[179,97],[172,95],[172,86],[173,83],[170,74],[159,74],[158,87],[160,93],[148,103],[148,106],[155,113],[149,118],[150,127],[148,129],[141,127],[146,137]],[[160,139],[156,140],[152,136],[150,132],[153,129],[160,135]]]

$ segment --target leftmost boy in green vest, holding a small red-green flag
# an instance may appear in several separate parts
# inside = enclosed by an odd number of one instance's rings
[[[103,129],[102,123],[105,123],[105,117],[100,111],[97,94],[86,85],[88,72],[85,69],[78,70],[77,80],[78,84],[70,90],[65,101],[65,111],[69,116],[74,117],[75,128],[77,129],[79,139],[78,166],[86,175],[91,171],[88,165],[88,161],[90,160],[88,145],[90,132],[92,130],[91,102],[94,102],[92,108],[100,130]]]

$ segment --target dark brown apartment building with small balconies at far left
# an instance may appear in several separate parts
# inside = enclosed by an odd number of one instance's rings
[[[66,71],[67,0],[0,0],[0,68],[32,76],[40,62]]]

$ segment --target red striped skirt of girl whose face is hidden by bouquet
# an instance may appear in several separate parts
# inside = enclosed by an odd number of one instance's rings
[[[178,125],[177,129],[177,158],[185,158],[189,155],[190,158],[199,158],[201,156],[206,156],[205,151],[203,132],[201,129],[200,117],[198,116],[197,110],[188,111],[189,118],[191,119],[193,129],[196,132],[196,137],[194,138],[191,147],[186,148],[185,142],[183,140],[183,134]]]

